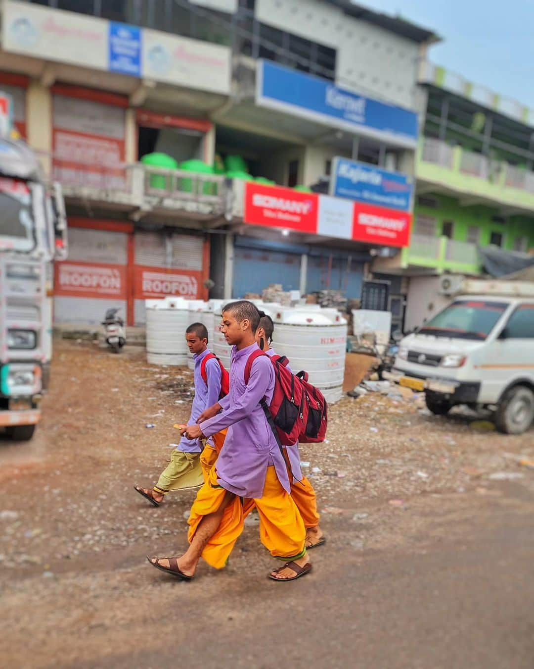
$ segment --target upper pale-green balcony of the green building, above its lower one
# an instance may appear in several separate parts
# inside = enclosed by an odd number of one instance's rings
[[[489,159],[462,147],[422,138],[417,155],[418,187],[515,213],[534,210],[534,172]]]

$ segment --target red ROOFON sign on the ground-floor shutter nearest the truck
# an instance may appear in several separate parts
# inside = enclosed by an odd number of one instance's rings
[[[126,299],[126,266],[89,262],[55,263],[55,296]]]

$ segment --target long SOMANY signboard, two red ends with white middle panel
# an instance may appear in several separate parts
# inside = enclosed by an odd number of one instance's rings
[[[243,221],[249,225],[402,247],[410,243],[412,213],[249,182],[245,184]]]

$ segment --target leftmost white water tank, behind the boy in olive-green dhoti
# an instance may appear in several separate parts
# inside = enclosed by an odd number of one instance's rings
[[[188,302],[182,298],[145,300],[146,360],[151,365],[186,365]]]

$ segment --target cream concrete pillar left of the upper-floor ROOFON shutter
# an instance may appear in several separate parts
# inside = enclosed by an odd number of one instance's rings
[[[52,94],[41,82],[31,81],[26,91],[28,144],[39,154],[46,175],[52,171]]]

